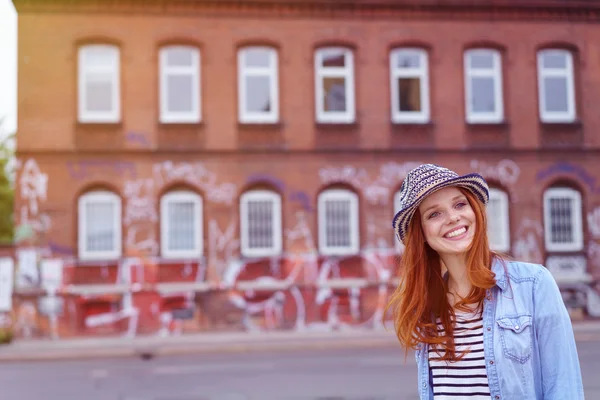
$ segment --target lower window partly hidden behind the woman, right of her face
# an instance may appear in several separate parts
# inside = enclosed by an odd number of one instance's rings
[[[510,228],[508,195],[499,189],[490,188],[487,206],[487,233],[492,250],[510,251]]]

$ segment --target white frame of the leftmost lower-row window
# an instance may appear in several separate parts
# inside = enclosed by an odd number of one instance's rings
[[[87,243],[87,221],[86,205],[93,202],[112,202],[115,206],[115,215],[113,227],[115,229],[113,250],[111,251],[91,251],[86,248]],[[78,253],[81,260],[113,260],[122,256],[122,224],[121,224],[121,198],[113,192],[94,191],[88,192],[79,197],[78,201]]]

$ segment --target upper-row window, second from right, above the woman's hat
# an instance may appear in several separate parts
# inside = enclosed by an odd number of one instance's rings
[[[467,122],[502,122],[502,63],[498,51],[465,52],[465,92]]]

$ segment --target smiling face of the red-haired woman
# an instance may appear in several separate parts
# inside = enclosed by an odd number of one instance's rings
[[[440,189],[419,206],[425,240],[440,256],[463,254],[475,236],[475,212],[456,187]]]

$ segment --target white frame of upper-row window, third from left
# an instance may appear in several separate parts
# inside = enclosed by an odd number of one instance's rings
[[[261,50],[269,54],[268,67],[247,67],[245,56],[248,51]],[[267,46],[248,46],[238,51],[238,119],[244,124],[274,124],[279,122],[279,56],[277,50]],[[246,77],[266,76],[269,78],[271,111],[250,112],[246,104]]]

